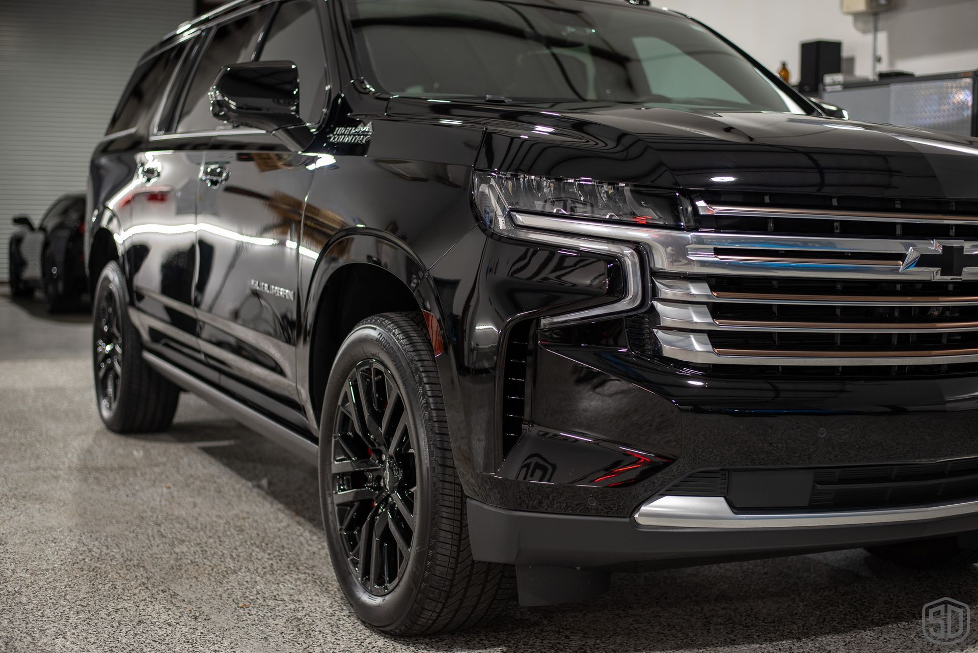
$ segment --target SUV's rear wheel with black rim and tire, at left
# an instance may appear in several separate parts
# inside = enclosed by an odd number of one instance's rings
[[[143,360],[139,332],[129,320],[122,269],[110,262],[92,301],[92,368],[95,398],[109,430],[154,433],[173,421],[180,389]]]

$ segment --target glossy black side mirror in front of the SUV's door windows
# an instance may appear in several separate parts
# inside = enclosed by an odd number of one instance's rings
[[[299,71],[291,62],[226,65],[210,89],[218,120],[274,132],[305,124],[299,115]]]

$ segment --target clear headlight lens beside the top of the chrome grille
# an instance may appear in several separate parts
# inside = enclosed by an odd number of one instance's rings
[[[508,172],[475,172],[475,204],[487,227],[511,231],[511,210],[626,223],[681,227],[676,193],[592,179],[556,179]]]

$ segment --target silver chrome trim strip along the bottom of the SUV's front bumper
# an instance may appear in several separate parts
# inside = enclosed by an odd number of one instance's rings
[[[832,512],[736,513],[723,497],[658,497],[635,513],[642,526],[669,528],[817,528],[864,526],[978,515],[978,501]]]

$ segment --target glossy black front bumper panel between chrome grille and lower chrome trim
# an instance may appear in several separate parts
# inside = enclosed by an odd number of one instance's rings
[[[693,381],[695,384],[690,384]],[[610,347],[542,342],[523,440],[472,499],[514,511],[630,518],[703,469],[821,468],[978,457],[978,377],[719,379]],[[616,445],[672,460],[635,482],[582,480]],[[539,473],[538,473],[539,472]]]

